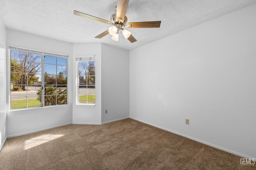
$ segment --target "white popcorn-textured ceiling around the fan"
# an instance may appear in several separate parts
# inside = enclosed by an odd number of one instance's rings
[[[127,28],[137,39],[94,38],[111,25],[75,16],[74,10],[110,21],[116,0],[0,0],[6,27],[70,43],[106,43],[134,49],[255,4],[256,0],[130,0],[128,22],[162,21],[160,28]]]

